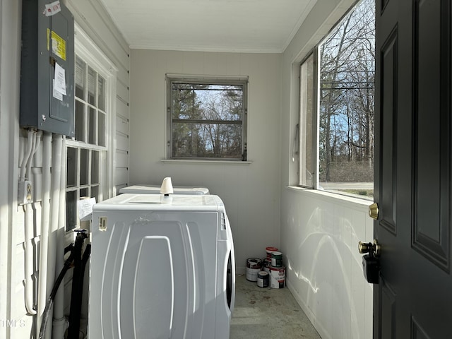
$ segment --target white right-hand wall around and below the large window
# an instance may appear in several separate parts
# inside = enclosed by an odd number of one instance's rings
[[[372,286],[364,280],[359,240],[373,239],[369,201],[291,188],[291,143],[299,112],[299,64],[352,5],[318,0],[283,53],[281,250],[287,286],[323,339],[371,338]]]

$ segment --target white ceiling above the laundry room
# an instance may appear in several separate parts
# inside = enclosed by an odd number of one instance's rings
[[[280,53],[317,0],[101,0],[131,48]]]

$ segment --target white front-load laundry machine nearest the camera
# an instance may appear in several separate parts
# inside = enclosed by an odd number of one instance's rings
[[[215,195],[93,206],[88,338],[229,339],[234,244]]]

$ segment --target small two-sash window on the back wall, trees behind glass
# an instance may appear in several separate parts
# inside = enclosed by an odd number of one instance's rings
[[[246,160],[246,80],[168,78],[169,158]]]

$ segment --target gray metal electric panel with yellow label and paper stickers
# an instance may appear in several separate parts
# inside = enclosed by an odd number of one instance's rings
[[[73,40],[61,1],[23,0],[20,126],[75,135]]]

